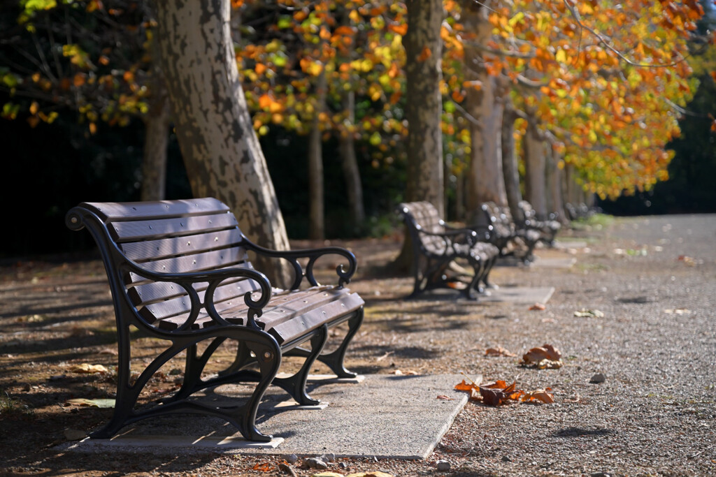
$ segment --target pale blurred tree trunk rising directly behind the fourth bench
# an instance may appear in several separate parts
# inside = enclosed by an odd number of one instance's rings
[[[537,119],[528,114],[527,131],[523,138],[525,151],[525,195],[538,215],[546,215],[545,142]]]

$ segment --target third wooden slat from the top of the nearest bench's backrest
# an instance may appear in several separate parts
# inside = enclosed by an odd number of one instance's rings
[[[172,237],[159,240],[123,243],[121,248],[125,255],[135,262],[147,259],[160,260],[198,252],[208,252],[219,248],[238,245],[243,240],[241,230],[233,228],[218,232],[204,232],[198,235]]]

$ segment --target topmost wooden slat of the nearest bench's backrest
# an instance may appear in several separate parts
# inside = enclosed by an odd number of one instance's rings
[[[166,218],[171,215],[188,217],[189,215],[226,213],[229,210],[223,202],[213,197],[153,202],[83,202],[80,206],[95,211],[105,222],[153,220],[157,217]]]

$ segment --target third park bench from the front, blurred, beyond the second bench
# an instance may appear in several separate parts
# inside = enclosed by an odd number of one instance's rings
[[[541,238],[540,232],[514,220],[509,207],[485,202],[480,208],[486,223],[492,227],[490,238],[500,250],[500,257],[513,256],[529,264],[534,258],[532,252]]]

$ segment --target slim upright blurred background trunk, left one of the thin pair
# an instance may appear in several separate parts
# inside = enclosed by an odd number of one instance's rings
[[[323,187],[323,139],[319,114],[326,109],[326,70],[316,77],[316,107],[309,133],[309,238],[323,240],[326,237],[324,187]]]

